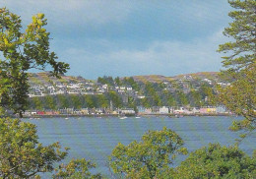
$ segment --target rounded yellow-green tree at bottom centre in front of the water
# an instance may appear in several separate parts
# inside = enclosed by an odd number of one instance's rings
[[[182,139],[166,127],[149,131],[141,142],[128,146],[119,143],[109,156],[110,166],[114,173],[127,178],[164,178],[175,155],[187,153],[182,145]]]

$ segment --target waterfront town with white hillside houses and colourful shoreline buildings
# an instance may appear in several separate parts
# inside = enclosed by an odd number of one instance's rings
[[[203,74],[203,73],[202,73]],[[211,90],[219,86],[228,86],[228,83],[220,82],[216,74],[212,74],[209,79],[206,75],[184,75],[172,80],[166,80],[163,77],[155,81],[148,78],[147,82],[138,80],[139,78],[123,78],[112,79],[111,77],[98,78],[97,81],[85,80],[82,77],[63,77],[60,80],[49,79],[46,73],[32,74],[30,79],[29,97],[31,100],[30,109],[26,110],[24,117],[32,116],[139,116],[139,115],[229,115],[229,111],[225,109],[224,105],[212,105],[208,100],[208,95],[204,94],[202,87],[207,87]],[[160,79],[161,78],[161,79]],[[134,80],[135,79],[135,80]],[[151,89],[145,84],[150,84]],[[146,87],[145,87],[146,86]],[[156,90],[155,92],[149,92]],[[116,97],[108,97],[107,94],[112,92]],[[198,94],[197,99],[191,98]],[[197,93],[196,93],[197,92]],[[172,101],[165,101],[166,96],[161,96],[162,93],[168,93],[168,96],[177,95],[176,99],[173,97]],[[185,96],[185,99],[190,103],[185,103],[180,100],[182,97],[180,93]],[[150,100],[159,97],[159,101]],[[54,109],[51,107],[37,107],[32,106],[33,99],[37,98],[41,102],[45,97],[51,97],[52,102],[55,101]],[[69,97],[64,100],[64,103],[69,103],[73,100],[72,97],[78,97],[82,100],[86,96],[95,96],[92,100],[97,100],[98,96],[105,98],[101,99],[104,104],[88,105],[88,101],[80,102],[80,105],[75,106],[74,102],[69,105],[57,105],[56,100],[62,97]],[[116,98],[119,97],[119,105],[116,105]],[[189,98],[190,97],[190,98]],[[148,99],[148,101],[147,101]],[[85,100],[85,99],[84,99]],[[132,100],[132,102],[131,102]],[[184,100],[184,99],[183,99]],[[193,103],[194,100],[194,103]],[[192,101],[192,103],[191,103]],[[196,102],[197,101],[197,102]],[[77,103],[79,103],[77,102]],[[95,101],[91,101],[95,102]],[[148,102],[148,103],[147,103]],[[46,103],[49,103],[47,101]],[[60,103],[60,102],[57,102]],[[63,103],[63,102],[62,102]],[[75,102],[76,103],[76,102]],[[82,104],[83,103],[83,104]],[[100,103],[100,102],[99,102]],[[131,103],[133,105],[131,105]]]

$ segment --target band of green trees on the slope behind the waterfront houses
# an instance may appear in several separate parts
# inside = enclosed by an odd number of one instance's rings
[[[199,89],[191,88],[184,92],[182,87],[173,83],[173,89],[166,89],[166,85],[158,83],[135,82],[133,78],[102,77],[97,79],[97,83],[107,84],[112,87],[102,94],[57,94],[42,97],[32,97],[29,99],[29,109],[60,109],[60,108],[120,108],[130,107],[136,109],[137,106],[190,106],[201,107],[215,104],[215,92],[208,84],[203,84]],[[134,93],[118,93],[114,86],[132,87],[137,95],[144,95],[138,98]],[[206,100],[207,99],[207,100]]]

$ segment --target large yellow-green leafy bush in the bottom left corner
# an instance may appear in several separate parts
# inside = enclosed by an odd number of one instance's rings
[[[50,172],[67,155],[58,143],[47,147],[38,143],[35,128],[20,119],[0,119],[0,177],[29,178]]]

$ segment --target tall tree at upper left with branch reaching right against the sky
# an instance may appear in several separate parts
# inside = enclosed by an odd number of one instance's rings
[[[32,24],[22,32],[21,18],[6,8],[0,9],[0,107],[12,109],[22,116],[28,104],[28,70],[52,67],[51,75],[60,77],[69,65],[57,62],[49,51],[49,32],[43,27],[47,20],[43,14],[32,17]]]

